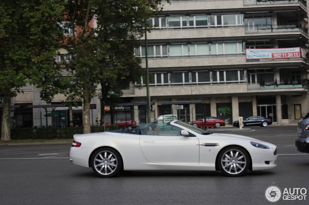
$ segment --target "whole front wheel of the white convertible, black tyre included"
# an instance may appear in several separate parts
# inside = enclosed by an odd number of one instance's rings
[[[248,170],[250,158],[241,147],[226,147],[218,156],[218,167],[226,176],[242,176]]]

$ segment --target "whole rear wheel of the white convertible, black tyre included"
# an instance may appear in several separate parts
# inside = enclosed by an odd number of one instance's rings
[[[100,148],[91,157],[91,168],[100,177],[114,177],[119,174],[122,159],[112,148]]]

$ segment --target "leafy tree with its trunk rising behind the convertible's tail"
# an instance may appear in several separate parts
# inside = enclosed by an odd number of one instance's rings
[[[76,35],[66,47],[73,56],[67,65],[73,76],[67,100],[83,102],[84,133],[89,133],[91,98],[99,94],[105,101],[121,96],[129,82],[140,82],[143,69],[134,48],[145,25],[151,30],[146,21],[162,10],[161,0],[68,2],[69,25],[76,27]]]

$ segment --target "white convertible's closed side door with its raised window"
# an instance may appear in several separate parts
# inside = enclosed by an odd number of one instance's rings
[[[145,158],[152,163],[199,164],[199,140],[180,135],[179,127],[160,130],[159,135],[141,135],[139,143]]]

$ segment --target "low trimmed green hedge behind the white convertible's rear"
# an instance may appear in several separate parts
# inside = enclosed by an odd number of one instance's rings
[[[108,125],[107,130],[117,130],[117,125]],[[103,126],[91,126],[91,133],[104,132]],[[83,127],[12,128],[11,139],[72,139],[83,134]]]

